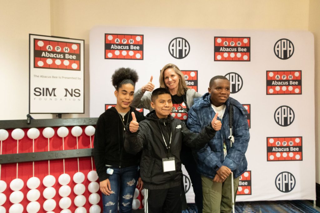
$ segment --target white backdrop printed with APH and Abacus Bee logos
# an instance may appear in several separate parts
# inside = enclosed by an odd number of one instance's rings
[[[177,65],[199,93],[224,75],[248,110],[248,170],[237,201],[316,199],[314,37],[307,31],[105,27],[90,31],[90,117],[116,103],[111,75],[139,74],[136,89]],[[148,110],[144,110],[146,114]],[[183,170],[186,189],[188,173]],[[194,202],[192,187],[188,202]]]

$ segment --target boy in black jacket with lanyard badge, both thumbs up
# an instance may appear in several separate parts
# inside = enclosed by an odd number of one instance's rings
[[[144,183],[145,212],[181,212],[182,142],[191,148],[202,148],[221,128],[218,114],[200,133],[192,133],[179,119],[172,118],[172,100],[166,88],[152,92],[155,109],[138,123],[134,114],[125,132],[124,148],[136,154],[142,150],[140,175]],[[196,171],[195,171],[196,172]]]

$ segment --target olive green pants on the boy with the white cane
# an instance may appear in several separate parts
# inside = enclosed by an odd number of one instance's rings
[[[240,176],[233,179],[234,199],[238,190]],[[223,182],[213,182],[201,175],[203,191],[203,213],[232,212],[231,175]]]

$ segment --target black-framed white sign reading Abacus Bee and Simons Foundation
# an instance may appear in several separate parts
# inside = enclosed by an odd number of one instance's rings
[[[84,40],[29,34],[29,113],[84,113]]]

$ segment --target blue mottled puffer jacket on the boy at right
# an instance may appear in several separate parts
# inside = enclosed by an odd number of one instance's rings
[[[204,126],[210,124],[215,115],[210,102],[211,95],[204,94],[202,97],[195,99],[194,105],[188,113],[187,126],[192,132],[200,132]],[[249,125],[246,114],[247,110],[235,99],[229,97],[226,101],[226,110],[222,117],[221,130],[210,140],[202,149],[194,150],[193,154],[197,162],[197,171],[209,178],[214,178],[216,171],[223,165],[234,172],[238,177],[247,169],[247,160],[244,156],[248,148],[250,139]],[[228,110],[230,105],[233,106],[233,125],[232,133],[235,142],[230,148],[230,127]],[[218,118],[219,119],[219,118]],[[223,155],[223,142],[227,145],[227,156]]]

